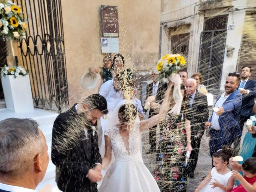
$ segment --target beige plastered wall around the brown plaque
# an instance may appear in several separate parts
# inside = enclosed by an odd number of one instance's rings
[[[70,105],[97,93],[100,86],[85,90],[81,77],[90,66],[102,66],[99,19],[102,4],[118,6],[119,50],[125,65],[136,71],[148,71],[158,60],[159,0],[62,1]]]

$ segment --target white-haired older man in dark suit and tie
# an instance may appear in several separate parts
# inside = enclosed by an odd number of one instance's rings
[[[207,97],[199,93],[196,85],[196,80],[190,78],[186,80],[186,118],[191,122],[191,146],[193,148],[190,154],[190,162],[188,163],[188,176],[194,177],[194,170],[196,169],[200,143],[204,134],[204,124],[209,117],[209,110],[207,106]]]

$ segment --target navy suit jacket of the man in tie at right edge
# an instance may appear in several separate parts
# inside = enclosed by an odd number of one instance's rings
[[[250,90],[250,92],[248,94],[242,95],[242,106],[240,110],[240,115],[248,117],[254,115],[254,113],[252,112],[252,108],[255,104],[254,98],[256,97],[256,81],[248,79],[244,86],[244,89]]]

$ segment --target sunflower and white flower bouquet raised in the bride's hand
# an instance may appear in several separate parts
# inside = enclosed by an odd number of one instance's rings
[[[186,60],[180,54],[166,54],[156,65],[159,78],[168,78],[186,65]]]

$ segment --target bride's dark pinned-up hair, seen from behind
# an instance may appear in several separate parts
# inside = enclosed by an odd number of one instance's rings
[[[123,104],[118,110],[118,117],[122,122],[128,122],[136,118],[137,108],[130,103]]]

